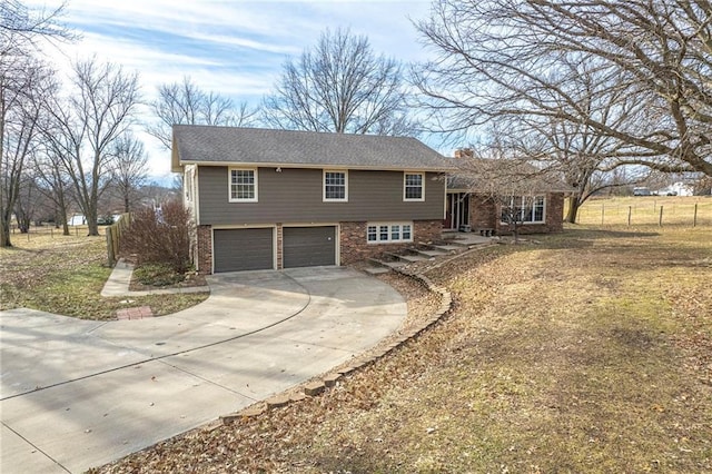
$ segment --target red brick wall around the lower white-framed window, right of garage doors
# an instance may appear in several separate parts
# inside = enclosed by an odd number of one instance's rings
[[[413,223],[413,243],[368,244],[366,227],[367,223],[340,223],[342,265],[379,257],[386,251],[398,251],[414,244],[439,240],[443,233],[442,220],[415,220]]]

